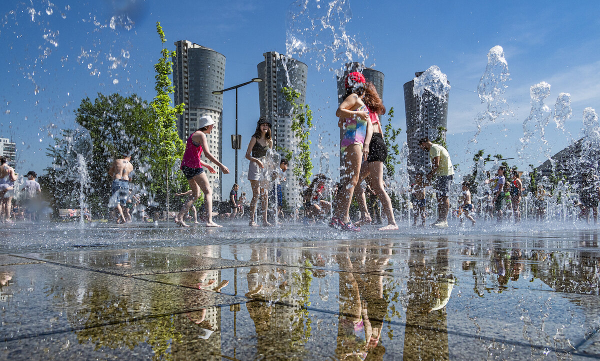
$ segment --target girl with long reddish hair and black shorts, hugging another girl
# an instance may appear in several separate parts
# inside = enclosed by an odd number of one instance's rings
[[[381,122],[379,121],[379,115],[385,114],[385,106],[383,106],[383,101],[379,97],[379,94],[377,94],[377,89],[373,83],[367,82],[365,96],[362,98],[362,101],[365,103],[365,106],[367,106],[369,112],[369,118],[373,125],[373,136],[369,143],[367,161],[362,162],[358,184],[366,178],[368,184],[373,188],[375,194],[377,194],[377,198],[381,201],[383,211],[388,217],[388,225],[379,228],[379,230],[397,230],[398,225],[394,218],[392,201],[389,198],[388,192],[385,191],[385,186],[383,186],[383,162],[388,158],[388,146],[383,140],[383,129],[381,127]],[[359,206],[361,206],[363,219],[365,219],[366,222],[370,222],[372,219],[367,210],[367,200],[362,196],[363,194],[364,191],[361,186],[356,188],[356,198],[358,199]]]

